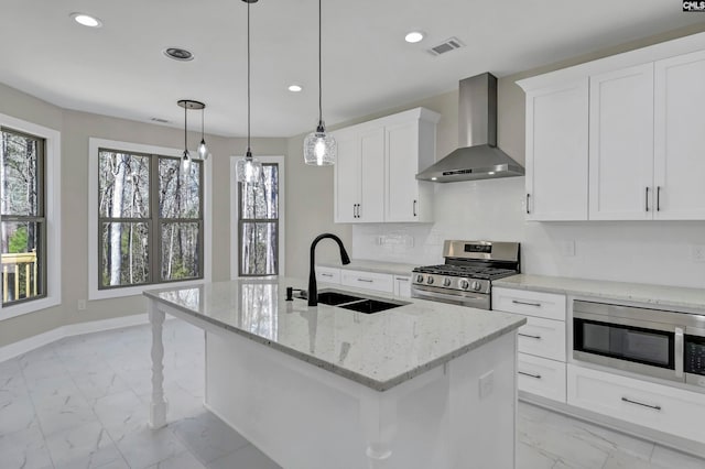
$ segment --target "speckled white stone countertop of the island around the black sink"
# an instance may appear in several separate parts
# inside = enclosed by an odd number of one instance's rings
[[[399,298],[408,305],[376,314],[305,299],[285,301],[297,279],[248,279],[144,292],[151,299],[239,334],[377,391],[389,390],[525,324],[523,316]],[[326,285],[318,285],[322,291]],[[343,290],[336,285],[336,290]]]

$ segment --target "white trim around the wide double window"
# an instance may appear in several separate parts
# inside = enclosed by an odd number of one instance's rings
[[[213,236],[212,236],[212,182],[213,164],[212,159],[204,161],[204,261],[203,279],[188,280],[183,282],[152,283],[149,285],[126,286],[122,288],[98,288],[98,150],[99,149],[120,150],[124,152],[135,152],[154,154],[162,156],[181,157],[183,149],[170,149],[165,146],[143,145],[140,143],[120,142],[116,140],[88,139],[88,299],[118,298],[123,296],[140,295],[147,290],[181,287],[197,285],[210,282],[210,270],[213,260]],[[194,150],[192,154],[196,154]]]

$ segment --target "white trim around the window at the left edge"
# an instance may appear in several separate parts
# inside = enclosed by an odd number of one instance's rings
[[[46,140],[44,153],[44,181],[46,197],[46,297],[17,305],[2,306],[0,320],[34,313],[62,304],[62,134],[59,131],[37,126],[0,113],[0,126]]]

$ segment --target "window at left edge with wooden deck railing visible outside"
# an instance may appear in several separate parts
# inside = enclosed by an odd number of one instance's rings
[[[2,305],[46,296],[45,139],[0,127]]]

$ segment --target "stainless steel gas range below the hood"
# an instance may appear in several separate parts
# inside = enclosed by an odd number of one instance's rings
[[[443,257],[413,270],[412,297],[491,309],[492,281],[520,272],[518,242],[445,241]]]

